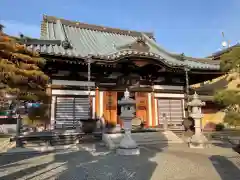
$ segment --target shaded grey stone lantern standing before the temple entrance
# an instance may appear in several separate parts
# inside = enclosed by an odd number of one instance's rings
[[[136,102],[129,97],[129,94],[128,89],[126,89],[124,97],[118,101],[118,104],[121,106],[120,118],[123,121],[125,134],[117,149],[117,153],[120,155],[139,155],[140,150],[136,142],[131,137],[132,119],[135,117]]]

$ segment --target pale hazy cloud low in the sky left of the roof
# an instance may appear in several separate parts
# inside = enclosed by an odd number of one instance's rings
[[[5,26],[4,32],[12,36],[19,36],[20,33],[25,36],[39,38],[40,26],[35,24],[25,24],[13,20],[0,20],[0,23]]]

